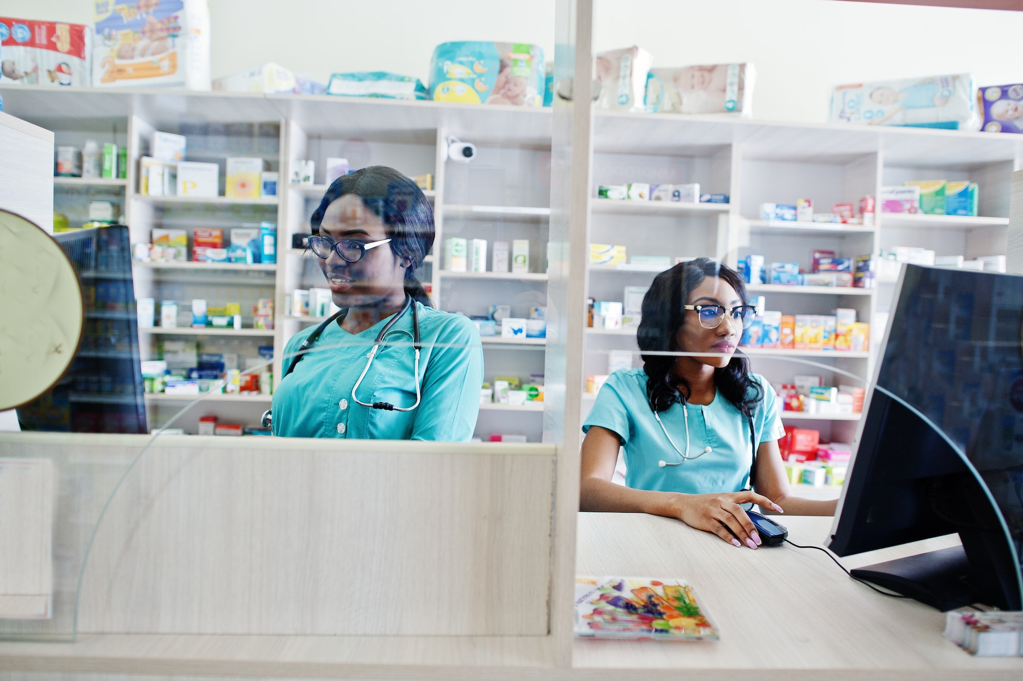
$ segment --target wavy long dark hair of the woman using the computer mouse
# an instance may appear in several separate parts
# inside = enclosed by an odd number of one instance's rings
[[[636,331],[640,351],[685,350],[679,348],[677,342],[678,329],[686,323],[682,306],[686,305],[693,289],[707,277],[724,280],[736,289],[743,305],[749,304],[743,278],[727,265],[708,258],[679,263],[654,277],[653,285],[642,299],[642,319]],[[692,315],[687,323],[698,324],[699,321]],[[722,320],[721,323],[725,322]],[[665,355],[642,356],[647,372],[647,400],[654,411],[664,411],[676,402],[684,403],[690,393],[685,379],[674,375],[678,359]],[[763,389],[750,377],[750,360],[738,353],[726,366],[714,370],[714,381],[721,395],[747,417],[753,415],[756,405],[763,399]],[[682,391],[678,390],[678,385],[682,387]]]

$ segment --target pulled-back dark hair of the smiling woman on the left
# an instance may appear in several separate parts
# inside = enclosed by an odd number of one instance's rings
[[[415,276],[422,259],[434,245],[434,208],[414,182],[387,166],[369,166],[342,175],[327,187],[319,207],[309,219],[312,233],[319,232],[323,214],[345,194],[355,194],[363,206],[384,222],[391,237],[391,251],[411,264],[405,269],[405,292],[430,307],[430,296]]]

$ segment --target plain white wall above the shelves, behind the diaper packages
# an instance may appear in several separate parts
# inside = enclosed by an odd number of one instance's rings
[[[87,0],[4,0],[7,16],[91,21]],[[514,40],[553,53],[554,0],[210,0],[214,77],[264,61],[326,79],[393,71],[426,82],[434,46]],[[972,72],[1023,80],[1023,12],[834,0],[598,0],[595,45],[638,44],[655,65],[750,60],[758,119],[820,122],[830,88]]]

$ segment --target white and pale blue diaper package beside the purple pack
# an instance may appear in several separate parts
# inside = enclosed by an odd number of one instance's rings
[[[829,123],[979,130],[970,74],[840,85]]]

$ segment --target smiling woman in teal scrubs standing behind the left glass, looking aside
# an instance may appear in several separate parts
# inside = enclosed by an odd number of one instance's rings
[[[422,191],[391,168],[364,168],[333,181],[311,225],[309,248],[319,257],[333,303],[342,312],[308,352],[299,351],[317,327],[303,329],[288,340],[285,373],[295,365],[273,394],[273,434],[472,439],[480,410],[483,346],[468,317],[430,307],[430,298],[415,277],[434,243],[433,208]],[[395,315],[397,321],[365,370],[374,340]],[[416,317],[422,347],[417,406]],[[356,401],[352,389],[364,370]],[[414,408],[402,411],[410,407]]]

